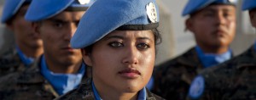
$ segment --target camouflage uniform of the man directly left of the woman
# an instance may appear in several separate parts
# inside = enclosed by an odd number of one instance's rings
[[[0,79],[0,100],[52,100],[59,97],[49,81],[41,75],[38,65],[40,64],[34,64],[23,72],[3,76]],[[85,70],[82,81],[90,77],[90,69]]]

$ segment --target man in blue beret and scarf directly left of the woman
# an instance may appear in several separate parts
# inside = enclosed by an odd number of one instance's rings
[[[42,37],[44,55],[37,66],[3,76],[0,99],[53,99],[76,88],[90,73],[79,49],[70,47],[79,19],[93,1],[34,0],[26,19]],[[86,70],[86,72],[85,72]]]

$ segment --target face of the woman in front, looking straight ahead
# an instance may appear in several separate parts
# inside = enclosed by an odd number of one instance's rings
[[[113,31],[96,42],[85,64],[92,66],[97,90],[138,92],[148,83],[154,69],[152,31]]]

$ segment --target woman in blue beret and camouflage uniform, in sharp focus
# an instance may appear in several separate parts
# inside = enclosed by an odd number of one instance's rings
[[[155,0],[97,0],[71,39],[92,77],[57,99],[155,100],[145,88],[160,43]]]

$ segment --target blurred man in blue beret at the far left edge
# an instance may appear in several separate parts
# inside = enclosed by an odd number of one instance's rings
[[[0,76],[24,70],[44,53],[42,39],[32,32],[32,23],[25,14],[32,0],[6,0],[2,23],[15,33],[15,47],[0,57]]]

